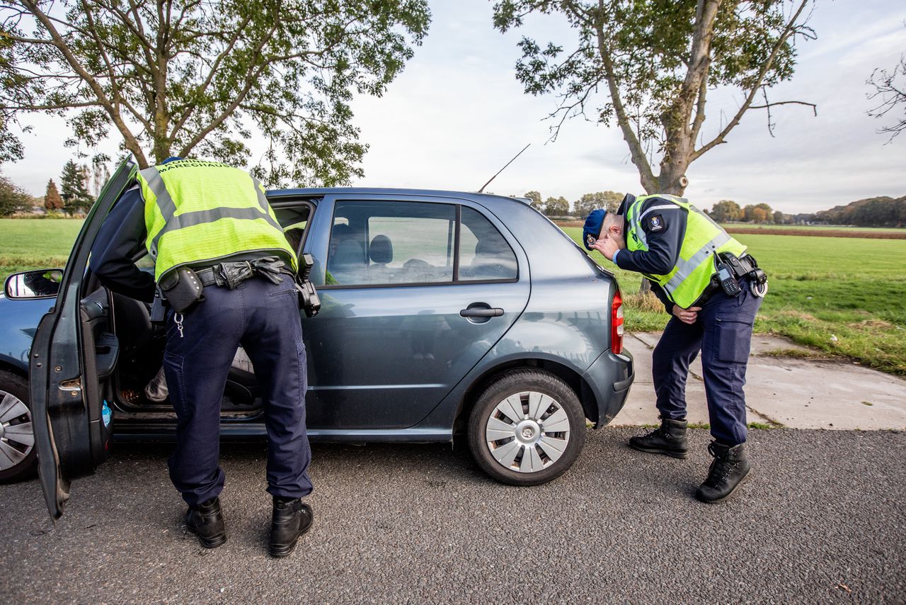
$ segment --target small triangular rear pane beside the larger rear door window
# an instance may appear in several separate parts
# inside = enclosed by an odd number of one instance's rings
[[[506,239],[477,210],[463,207],[459,280],[516,279],[519,265]]]

